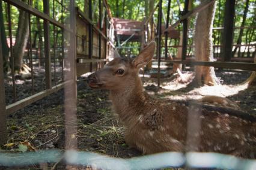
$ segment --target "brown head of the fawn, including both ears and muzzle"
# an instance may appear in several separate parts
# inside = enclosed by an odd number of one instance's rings
[[[118,51],[114,52],[114,59],[99,71],[94,72],[87,78],[90,87],[116,90],[135,85],[138,78],[139,68],[147,65],[154,56],[156,42],[151,41],[135,59],[121,57]]]

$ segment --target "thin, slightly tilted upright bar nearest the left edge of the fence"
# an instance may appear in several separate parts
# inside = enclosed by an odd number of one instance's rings
[[[14,76],[14,56],[13,56],[13,33],[11,32],[11,5],[7,4],[7,13],[8,13],[8,28],[9,28],[9,38],[10,38],[10,52],[11,52],[11,79],[13,82],[13,98],[14,102],[17,101],[16,94],[16,84],[15,84],[15,76]]]

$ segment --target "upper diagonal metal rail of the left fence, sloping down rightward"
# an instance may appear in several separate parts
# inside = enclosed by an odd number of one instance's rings
[[[56,25],[60,28],[64,28],[66,31],[69,31],[71,32],[72,30],[70,30],[69,28],[67,28],[66,26],[64,26],[62,23],[59,23],[57,22],[56,20],[53,20],[49,17],[49,15],[45,14],[45,13],[41,13],[39,10],[31,7],[30,5],[28,4],[25,4],[24,2],[22,1],[16,1],[16,0],[2,0],[2,1],[5,1],[7,2],[8,4],[11,4],[11,5],[14,5],[15,7],[21,9],[21,10],[24,10],[30,14],[33,14],[37,17],[40,17],[41,19],[43,20],[47,20],[49,21],[50,23],[52,23],[53,25]]]

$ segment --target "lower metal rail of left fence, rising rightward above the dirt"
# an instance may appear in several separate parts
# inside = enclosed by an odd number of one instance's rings
[[[10,104],[6,107],[6,112],[7,114],[14,113],[14,111],[20,110],[21,108],[24,108],[27,105],[32,104],[33,102],[36,102],[54,92],[57,92],[58,90],[62,89],[64,85],[67,83],[70,83],[70,81],[66,81],[64,83],[58,84],[57,86],[53,86],[52,89],[43,90],[42,92],[36,93],[35,95],[29,96],[28,98],[17,101],[14,104]]]

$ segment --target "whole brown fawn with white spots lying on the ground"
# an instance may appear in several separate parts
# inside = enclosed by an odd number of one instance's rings
[[[139,69],[152,59],[150,42],[135,59],[120,57],[88,77],[90,87],[110,90],[112,107],[126,127],[125,140],[144,154],[213,151],[253,158],[254,116],[218,107],[154,99],[144,92]],[[230,112],[230,113],[229,113]]]

